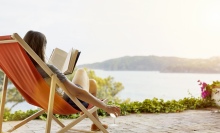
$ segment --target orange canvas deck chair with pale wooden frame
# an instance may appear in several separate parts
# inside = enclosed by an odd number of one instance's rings
[[[50,76],[50,86],[45,82],[42,76],[38,73],[37,69],[31,62],[28,54],[43,68],[43,70]],[[102,126],[102,124],[92,115],[98,108],[93,106],[90,109],[86,109],[76,97],[70,95],[62,82],[57,78],[50,68],[35,54],[35,52],[29,47],[29,45],[17,34],[7,36],[0,36],[0,69],[4,72],[4,81],[2,86],[2,97],[0,104],[0,131],[2,131],[3,113],[6,101],[6,91],[8,80],[10,80],[23,98],[30,104],[41,108],[40,111],[32,116],[21,121],[7,132],[12,132],[15,129],[21,127],[27,122],[35,119],[37,116],[47,114],[47,120],[45,123],[45,132],[51,131],[51,122],[54,120],[61,126],[61,129],[57,132],[65,132],[72,128],[74,125],[88,117],[92,122],[98,126],[102,132],[108,131]],[[76,105],[84,113],[77,119],[74,119],[70,124],[64,125],[60,122],[54,114],[74,114],[78,113],[73,107],[71,107],[59,94],[56,93],[55,87],[59,86],[63,91],[76,103]],[[103,100],[102,102],[106,102]]]

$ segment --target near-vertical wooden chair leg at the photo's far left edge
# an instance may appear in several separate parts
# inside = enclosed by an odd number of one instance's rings
[[[0,132],[2,132],[2,123],[3,123],[3,115],[5,109],[7,86],[8,86],[8,77],[5,74],[3,86],[2,86],[2,97],[1,97],[1,105],[0,105]]]

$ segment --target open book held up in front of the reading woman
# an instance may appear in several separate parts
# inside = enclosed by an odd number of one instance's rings
[[[68,53],[62,49],[55,48],[48,60],[48,64],[56,66],[65,75],[73,73],[78,61],[80,51],[71,49]]]

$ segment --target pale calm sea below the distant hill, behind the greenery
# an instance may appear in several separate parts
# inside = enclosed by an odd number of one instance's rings
[[[111,76],[115,82],[121,82],[124,89],[116,97],[130,101],[144,101],[145,99],[158,98],[179,100],[185,97],[200,97],[201,89],[198,80],[212,83],[220,79],[220,74],[200,73],[160,73],[157,71],[104,71],[94,70],[98,77]],[[6,107],[10,107],[9,103]],[[20,103],[12,109],[26,111],[36,109],[26,102]]]

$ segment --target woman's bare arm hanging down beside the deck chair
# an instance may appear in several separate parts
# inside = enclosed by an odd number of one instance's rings
[[[79,98],[80,100],[95,105],[108,113],[113,113],[115,114],[115,116],[120,115],[119,107],[106,105],[104,102],[102,102],[101,100],[99,100],[98,98],[87,92],[86,90],[79,88],[69,80],[64,81],[63,84],[73,96]]]

